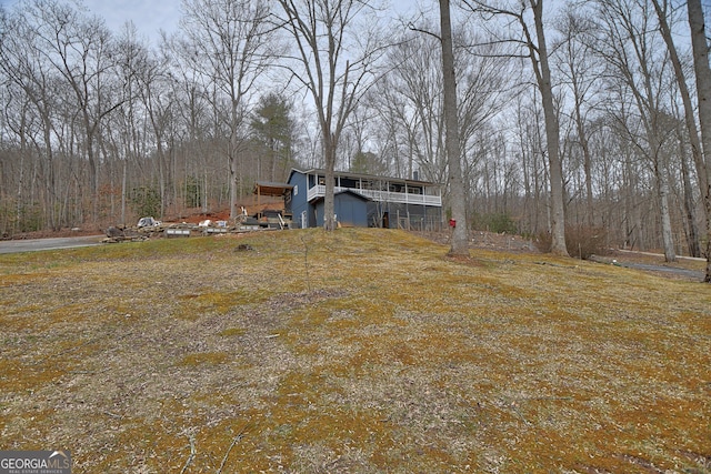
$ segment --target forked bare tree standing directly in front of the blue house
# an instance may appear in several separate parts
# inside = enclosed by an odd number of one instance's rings
[[[308,90],[318,117],[326,162],[323,228],[336,229],[334,168],[343,129],[375,80],[383,48],[371,26],[358,24],[372,12],[360,0],[278,0],[276,21],[293,38],[296,51],[284,63],[291,79]]]

